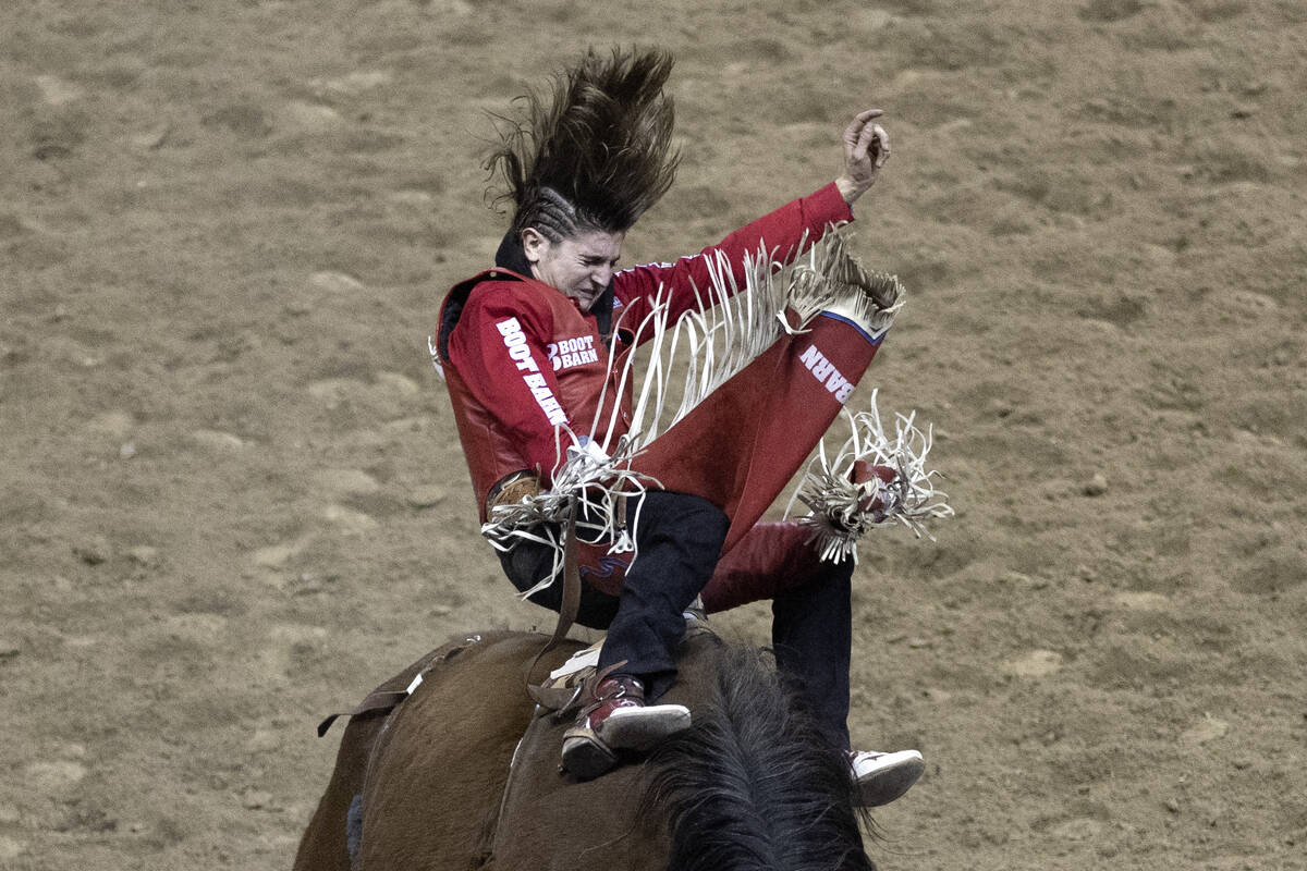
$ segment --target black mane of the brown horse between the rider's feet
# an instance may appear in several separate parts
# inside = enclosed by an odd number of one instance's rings
[[[643,807],[669,815],[668,868],[874,871],[840,748],[765,653],[716,646],[718,704],[695,708],[694,727],[647,767]]]

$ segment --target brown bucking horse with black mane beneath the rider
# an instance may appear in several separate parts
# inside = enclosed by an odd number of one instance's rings
[[[536,716],[523,688],[544,636],[472,637],[383,684],[403,689],[425,669],[392,712],[352,718],[297,871],[874,868],[843,753],[762,653],[691,632],[663,700],[687,705],[694,727],[576,781],[558,767],[571,718]]]

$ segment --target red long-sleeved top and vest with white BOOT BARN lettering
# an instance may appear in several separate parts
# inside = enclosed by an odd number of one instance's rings
[[[736,230],[698,256],[614,274],[613,321],[620,330],[613,346],[617,359],[606,379],[609,350],[596,315],[582,313],[562,291],[507,269],[491,269],[455,285],[440,309],[437,354],[482,521],[486,495],[506,475],[529,469],[548,486],[557,457],[555,426],[566,423],[586,436],[597,414],[596,440],[626,432],[631,397],[630,389],[617,396],[617,377],[660,289],[670,300],[674,323],[698,308],[694,289],[711,286],[702,255],[725,252],[736,281],[742,283],[744,256],[757,253],[759,245],[765,244],[774,260],[788,261],[799,253],[804,234],[813,242],[830,225],[851,219],[848,204],[829,184]]]

